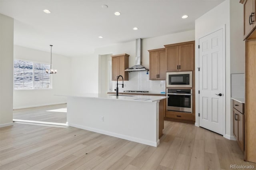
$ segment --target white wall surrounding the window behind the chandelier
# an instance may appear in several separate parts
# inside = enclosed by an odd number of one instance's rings
[[[49,52],[39,51],[14,45],[14,59],[23,59],[50,64]],[[63,55],[54,54],[52,47],[52,67],[58,70],[52,76],[52,89],[13,90],[13,108],[36,107],[66,103],[66,97],[56,96],[70,92],[71,59]]]

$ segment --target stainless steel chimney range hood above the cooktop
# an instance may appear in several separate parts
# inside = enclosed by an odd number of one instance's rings
[[[135,65],[125,69],[124,71],[149,71],[146,67],[142,65],[142,39],[136,39],[136,57]]]

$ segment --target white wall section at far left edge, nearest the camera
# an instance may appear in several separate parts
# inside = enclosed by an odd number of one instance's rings
[[[0,14],[0,127],[12,125],[14,19]]]

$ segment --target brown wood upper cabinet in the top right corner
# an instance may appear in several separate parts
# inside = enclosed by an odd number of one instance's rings
[[[244,40],[250,35],[256,26],[255,9],[256,0],[240,0],[244,4]]]

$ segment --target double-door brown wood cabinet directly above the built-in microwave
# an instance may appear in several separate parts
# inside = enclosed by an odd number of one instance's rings
[[[194,71],[195,42],[164,45],[167,71]]]

